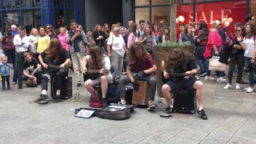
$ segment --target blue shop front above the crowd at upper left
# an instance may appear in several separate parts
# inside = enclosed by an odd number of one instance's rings
[[[71,19],[80,22],[80,7],[79,0],[1,0],[1,31],[5,31],[6,24],[25,26],[29,33],[33,27],[46,24],[58,28],[70,25]]]

